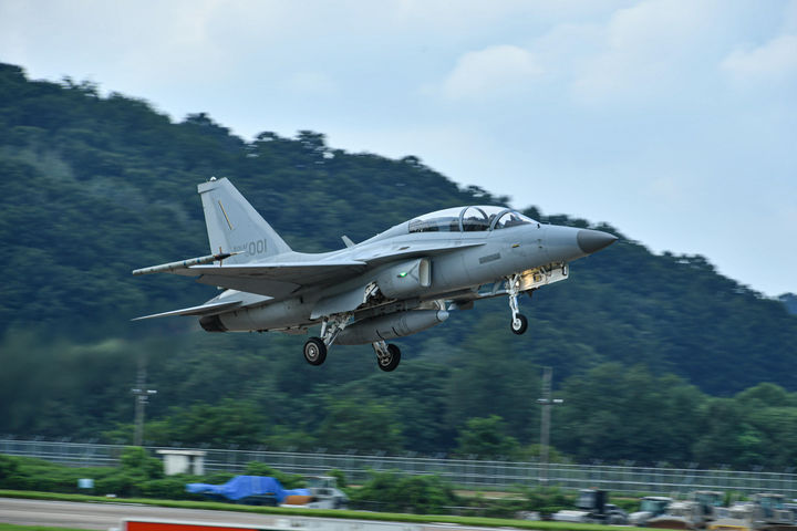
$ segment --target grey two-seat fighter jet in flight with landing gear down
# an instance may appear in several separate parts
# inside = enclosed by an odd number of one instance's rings
[[[291,250],[227,178],[198,186],[210,252],[133,274],[194,277],[224,291],[198,306],[146,315],[194,315],[208,332],[306,334],[304,360],[321,365],[333,344],[372,344],[393,371],[400,348],[389,340],[436,326],[482,299],[507,295],[510,330],[528,320],[518,296],[566,280],[569,262],[617,240],[608,232],[544,225],[511,208],[469,206],[396,225],[324,253]]]

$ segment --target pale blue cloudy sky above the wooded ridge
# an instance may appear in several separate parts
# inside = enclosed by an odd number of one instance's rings
[[[0,0],[0,61],[414,155],[797,293],[797,1]]]

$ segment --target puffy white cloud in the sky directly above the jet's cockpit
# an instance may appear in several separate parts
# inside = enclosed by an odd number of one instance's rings
[[[462,55],[441,86],[451,100],[494,100],[527,92],[544,73],[528,50],[501,44]]]

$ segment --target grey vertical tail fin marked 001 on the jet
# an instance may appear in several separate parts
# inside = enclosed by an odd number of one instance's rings
[[[291,250],[226,177],[197,189],[211,252],[240,252],[227,261],[246,263]]]

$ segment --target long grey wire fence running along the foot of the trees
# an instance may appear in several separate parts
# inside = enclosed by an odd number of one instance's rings
[[[0,454],[46,459],[69,466],[114,466],[125,447],[70,441],[0,439]],[[147,447],[156,450],[178,448]],[[179,448],[188,449],[188,448]],[[241,473],[251,461],[302,476],[341,470],[351,483],[362,483],[369,470],[396,471],[406,475],[436,475],[457,488],[507,490],[514,486],[547,485],[567,490],[602,488],[617,493],[673,494],[692,490],[725,490],[739,493],[777,492],[797,498],[797,473],[702,470],[696,468],[653,468],[609,465],[548,466],[541,475],[539,462],[435,459],[423,457],[361,456],[356,454],[300,454],[287,451],[205,449],[206,472]]]

